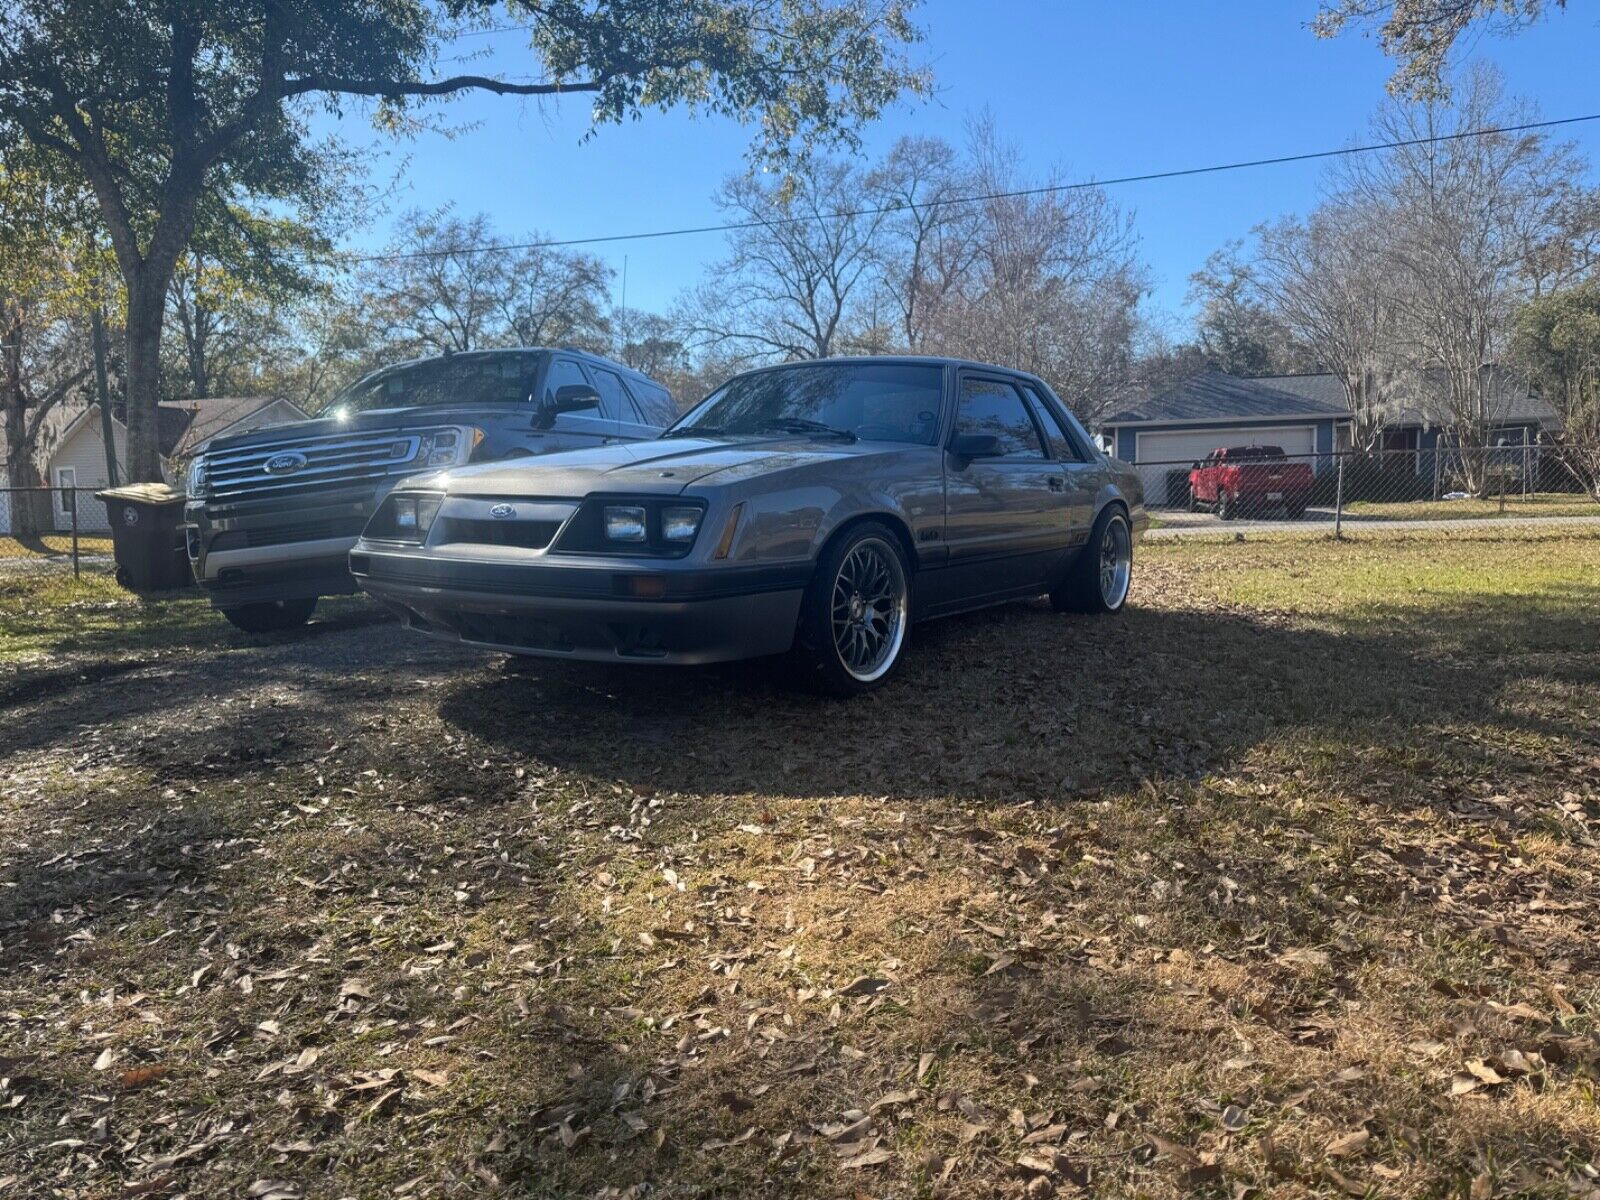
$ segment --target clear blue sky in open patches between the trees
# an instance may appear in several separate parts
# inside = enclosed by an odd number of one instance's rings
[[[1392,64],[1373,40],[1312,37],[1315,0],[925,0],[933,101],[899,107],[866,134],[877,154],[906,133],[960,142],[966,120],[989,109],[1030,170],[1112,178],[1214,162],[1333,149],[1358,139],[1384,98]],[[1226,13],[1226,16],[1219,16]],[[454,43],[477,53],[464,69],[528,74],[522,35]],[[1582,8],[1515,38],[1475,35],[1459,61],[1488,59],[1509,91],[1542,117],[1600,110],[1594,62],[1600,26]],[[358,118],[320,120],[378,155],[374,179],[394,184],[387,213],[349,238],[379,248],[392,216],[453,202],[486,213],[506,237],[541,230],[590,237],[715,222],[710,195],[744,168],[749,130],[723,120],[648,114],[602,126],[584,141],[582,99],[534,102],[470,96],[443,110],[453,138],[394,142]],[[1600,162],[1600,122],[1570,138]],[[1214,248],[1282,213],[1315,205],[1318,165],[1267,166],[1198,179],[1112,189],[1136,213],[1154,312],[1184,331],[1187,278]],[[723,253],[720,235],[600,246],[618,269],[627,256],[627,302],[666,309]]]

